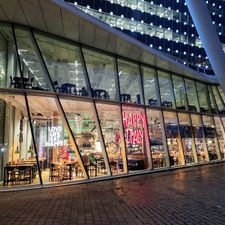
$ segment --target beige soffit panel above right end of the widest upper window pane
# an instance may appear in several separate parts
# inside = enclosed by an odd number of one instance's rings
[[[74,41],[80,40],[80,18],[62,9],[62,22],[65,37]]]

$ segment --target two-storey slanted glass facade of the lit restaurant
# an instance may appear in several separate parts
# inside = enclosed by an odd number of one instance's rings
[[[0,189],[224,159],[217,84],[0,26]]]

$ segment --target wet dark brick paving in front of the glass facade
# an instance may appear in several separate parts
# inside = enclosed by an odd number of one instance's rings
[[[0,193],[5,225],[225,224],[225,163]]]

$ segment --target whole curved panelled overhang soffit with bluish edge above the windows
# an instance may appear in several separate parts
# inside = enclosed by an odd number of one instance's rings
[[[37,28],[174,73],[205,80],[200,73],[174,62],[161,52],[146,47],[62,0],[1,0],[0,20]]]

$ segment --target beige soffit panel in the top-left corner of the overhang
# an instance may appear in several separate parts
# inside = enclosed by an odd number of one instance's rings
[[[26,17],[18,0],[1,0],[0,5],[9,18],[9,21],[28,25]]]

